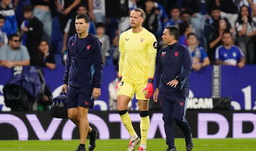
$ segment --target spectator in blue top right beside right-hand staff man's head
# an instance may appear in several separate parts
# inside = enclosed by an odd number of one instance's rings
[[[196,34],[190,33],[187,36],[188,50],[192,57],[192,68],[194,71],[200,71],[202,67],[210,65],[210,59],[203,47],[197,45]]]

